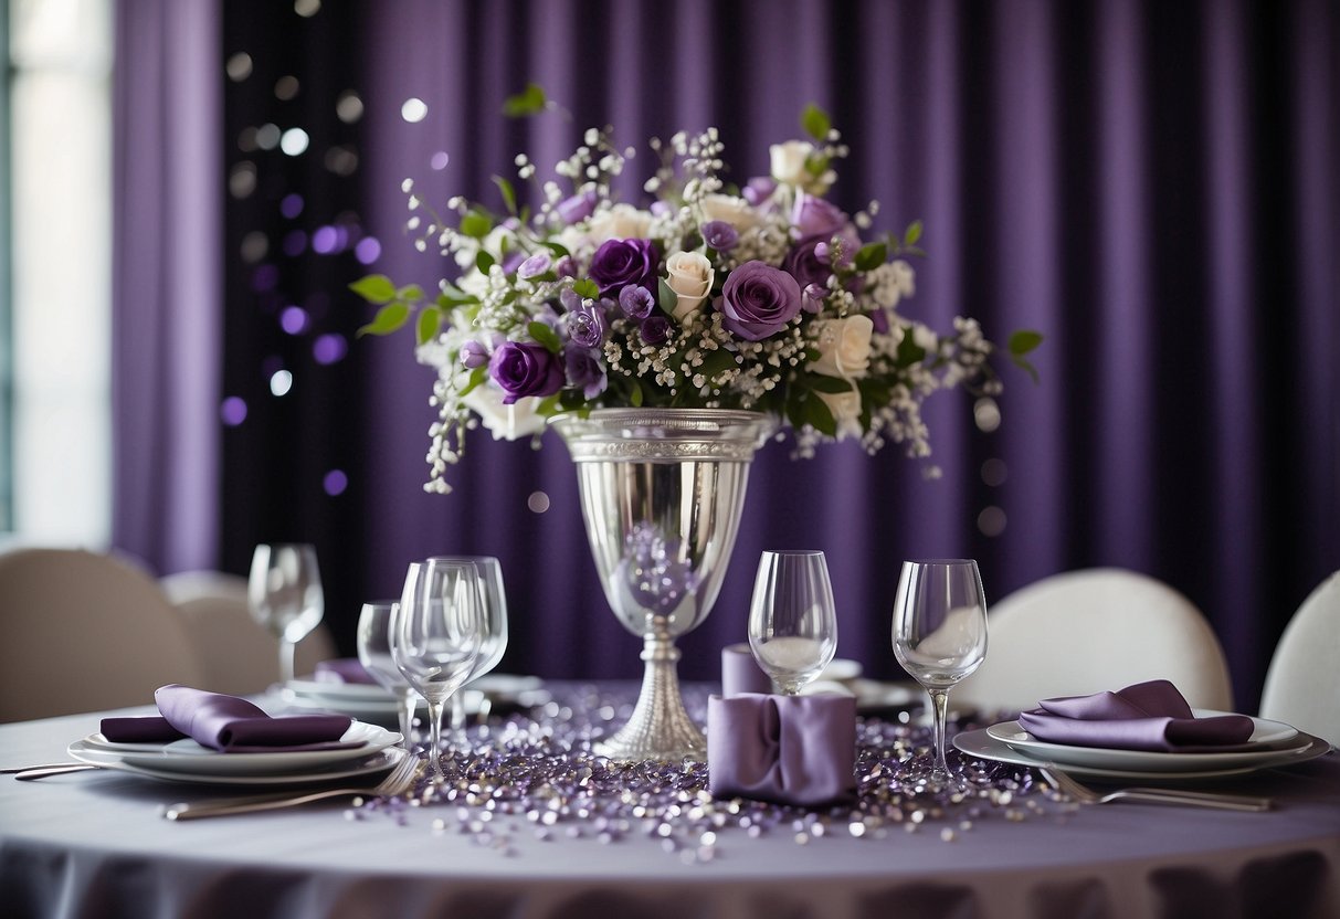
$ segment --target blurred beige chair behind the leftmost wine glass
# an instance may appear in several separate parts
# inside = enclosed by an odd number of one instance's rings
[[[260,693],[279,681],[279,640],[251,618],[247,579],[220,571],[188,571],[159,581],[205,668],[214,693]],[[335,656],[330,630],[318,626],[297,643],[293,673],[311,674]]]

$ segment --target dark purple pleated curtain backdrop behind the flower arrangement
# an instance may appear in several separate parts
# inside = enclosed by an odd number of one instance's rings
[[[244,567],[267,533],[316,541],[346,647],[358,604],[395,593],[407,561],[473,551],[508,575],[505,668],[639,666],[596,587],[553,435],[532,451],[478,431],[454,494],[419,488],[431,372],[407,338],[352,340],[370,311],[344,291],[367,271],[438,276],[440,259],[403,233],[401,180],[438,206],[497,204],[490,177],[511,174],[517,151],[544,169],[606,123],[643,154],[630,197],[649,170],[643,141],[679,129],[718,126],[744,180],[799,134],[807,102],[852,147],[835,200],[876,198],[880,228],[925,221],[914,315],[945,327],[966,312],[996,339],[1041,330],[1041,383],[1006,368],[996,431],[977,429],[966,397],[935,397],[939,481],[896,450],[844,443],[803,462],[764,450],[716,611],[682,642],[686,677],[714,677],[716,648],[744,636],[762,548],[828,553],[839,654],[875,675],[896,674],[899,561],[966,555],[996,599],[1080,567],[1163,579],[1209,616],[1250,710],[1289,615],[1340,567],[1335,4],[398,0],[327,3],[311,19],[237,3],[222,16],[221,58],[255,64],[225,95],[226,169],[253,163],[260,181],[229,202],[224,245],[224,395],[248,414],[222,437],[220,564]],[[296,99],[276,96],[284,75]],[[571,121],[500,117],[532,79]],[[362,115],[336,121],[350,90]],[[423,121],[402,119],[410,98]],[[311,137],[303,155],[245,147],[248,127],[295,119]],[[332,167],[332,151],[348,165],[340,150],[356,169]],[[323,226],[346,238],[318,253]],[[285,245],[295,232],[306,248]],[[257,233],[265,253],[244,256]],[[354,246],[368,238],[381,255],[364,265]],[[276,332],[293,304],[310,323]],[[347,356],[314,362],[331,335]],[[293,375],[283,397],[267,391],[279,366]],[[118,520],[153,504],[118,497]]]

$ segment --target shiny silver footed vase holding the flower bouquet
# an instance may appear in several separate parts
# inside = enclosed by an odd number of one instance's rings
[[[604,596],[642,638],[632,717],[595,752],[612,760],[702,760],[679,697],[675,639],[712,611],[740,531],[749,464],[775,429],[754,411],[596,409],[549,423],[578,470]]]

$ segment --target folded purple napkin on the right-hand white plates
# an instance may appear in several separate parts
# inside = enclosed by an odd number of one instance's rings
[[[1197,718],[1178,689],[1166,679],[1127,686],[1116,693],[1043,699],[1018,723],[1040,741],[1155,753],[1225,753],[1249,749],[1246,715]]]

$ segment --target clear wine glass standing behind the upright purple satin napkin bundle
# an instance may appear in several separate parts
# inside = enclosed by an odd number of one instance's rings
[[[787,695],[799,695],[832,662],[838,615],[823,552],[762,553],[749,607],[749,648]]]

